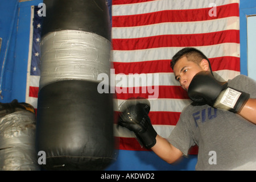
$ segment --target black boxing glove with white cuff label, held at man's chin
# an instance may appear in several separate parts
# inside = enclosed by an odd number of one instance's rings
[[[239,113],[250,98],[250,94],[229,87],[228,82],[217,81],[209,71],[201,71],[193,77],[188,96],[194,102],[233,113]]]

